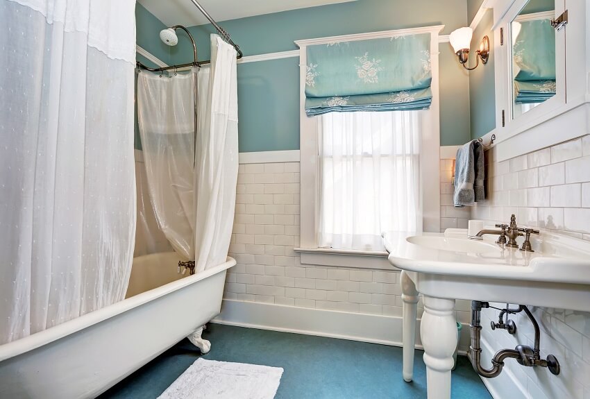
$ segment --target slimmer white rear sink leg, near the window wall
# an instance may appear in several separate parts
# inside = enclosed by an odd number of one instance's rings
[[[414,347],[416,345],[416,317],[418,314],[418,291],[405,271],[401,272],[400,283],[403,300],[403,379],[412,381],[414,375]]]

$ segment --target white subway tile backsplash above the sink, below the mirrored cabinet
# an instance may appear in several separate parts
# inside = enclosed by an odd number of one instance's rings
[[[507,222],[590,239],[590,135],[495,162],[486,152],[487,201],[472,219]]]

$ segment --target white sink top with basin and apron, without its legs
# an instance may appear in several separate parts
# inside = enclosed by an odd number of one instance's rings
[[[389,262],[422,294],[590,311],[590,241],[543,231],[525,252],[495,239],[468,239],[458,229],[383,235]]]

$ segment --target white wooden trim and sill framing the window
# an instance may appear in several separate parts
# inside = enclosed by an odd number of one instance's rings
[[[317,122],[316,119],[305,114],[305,74],[307,65],[307,46],[313,44],[327,44],[329,42],[342,42],[352,40],[377,39],[379,37],[391,37],[392,35],[414,35],[416,33],[430,33],[430,54],[432,57],[432,103],[430,110],[423,111],[421,119],[421,160],[420,197],[423,212],[423,231],[440,231],[440,96],[439,96],[439,32],[444,25],[426,26],[423,28],[398,29],[395,31],[382,31],[373,33],[361,33],[357,35],[344,35],[333,37],[321,37],[319,39],[298,40],[299,46],[299,120],[300,120],[300,169],[301,169],[301,248],[295,251],[301,253],[301,263],[322,264],[328,266],[365,267],[369,269],[384,269],[385,265],[391,269],[387,262],[387,254],[355,251],[355,254],[346,251],[318,248],[318,219],[319,219],[319,193],[318,178],[319,165],[317,164]],[[353,258],[354,259],[351,259]]]

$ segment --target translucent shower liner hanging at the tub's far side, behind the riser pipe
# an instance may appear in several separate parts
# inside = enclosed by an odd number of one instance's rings
[[[197,75],[193,69],[171,77],[141,71],[137,77],[137,117],[151,205],[158,226],[186,260],[194,259]]]

